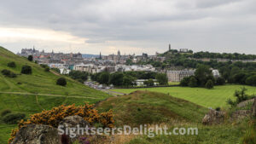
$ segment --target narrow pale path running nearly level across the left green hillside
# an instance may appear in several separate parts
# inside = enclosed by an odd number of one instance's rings
[[[84,96],[69,96],[69,95],[52,95],[52,94],[32,94],[32,93],[24,93],[24,92],[0,92],[0,94],[12,94],[12,95],[44,95],[44,96],[54,96],[54,97],[73,97],[80,99],[99,99],[96,97],[84,97]]]

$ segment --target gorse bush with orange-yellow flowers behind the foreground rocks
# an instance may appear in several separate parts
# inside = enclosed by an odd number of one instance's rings
[[[26,121],[23,119],[18,124],[18,129],[12,130],[11,138],[9,138],[9,143],[15,139],[15,135],[20,130],[21,127],[27,124],[44,124],[57,128],[59,123],[68,116],[78,115],[89,124],[100,123],[103,127],[113,128],[113,112],[112,110],[108,112],[99,113],[93,105],[85,103],[84,106],[75,107],[75,105],[54,107],[49,111],[43,111],[40,113],[35,113],[30,116]]]

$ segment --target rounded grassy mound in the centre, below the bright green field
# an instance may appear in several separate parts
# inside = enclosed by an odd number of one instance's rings
[[[154,124],[180,119],[190,122],[201,122],[207,108],[192,102],[177,99],[170,95],[156,92],[137,91],[131,95],[109,98],[101,102],[100,111],[113,109],[117,125]]]

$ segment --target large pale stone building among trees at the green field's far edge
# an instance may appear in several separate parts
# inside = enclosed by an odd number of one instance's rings
[[[195,75],[195,70],[167,71],[166,75],[169,82],[180,82],[185,77]]]

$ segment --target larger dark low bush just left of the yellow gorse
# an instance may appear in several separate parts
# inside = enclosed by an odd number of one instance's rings
[[[25,117],[24,113],[9,113],[3,117],[3,122],[5,124],[18,124]]]

